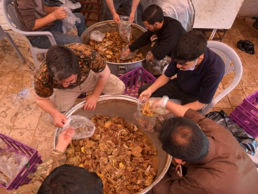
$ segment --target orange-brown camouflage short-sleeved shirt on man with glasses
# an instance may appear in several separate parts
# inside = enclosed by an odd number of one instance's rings
[[[88,77],[90,70],[99,73],[106,67],[104,59],[91,47],[81,43],[65,44],[71,49],[79,61],[79,75],[77,76],[76,85],[68,86],[72,88],[82,84]],[[50,97],[53,94],[53,88],[66,89],[63,85],[55,84],[54,79],[49,75],[46,63],[39,65],[34,76],[34,89],[37,95],[43,98]]]

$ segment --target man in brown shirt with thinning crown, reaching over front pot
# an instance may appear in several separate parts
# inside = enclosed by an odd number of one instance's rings
[[[159,133],[172,164],[148,194],[257,193],[255,165],[228,130],[188,107],[153,100],[152,110],[163,107],[177,117],[164,121]]]

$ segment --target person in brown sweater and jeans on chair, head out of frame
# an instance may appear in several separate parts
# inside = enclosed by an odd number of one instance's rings
[[[13,0],[13,4],[23,31],[49,31],[53,34],[57,44],[82,43],[80,35],[84,31],[85,19],[81,13],[74,13],[80,18],[80,23],[75,23],[77,36],[63,33],[61,19],[67,17],[63,8],[47,7],[43,0]],[[33,46],[38,48],[51,47],[47,36],[28,36],[28,39]]]

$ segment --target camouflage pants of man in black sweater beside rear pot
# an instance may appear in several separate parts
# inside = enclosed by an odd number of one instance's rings
[[[151,51],[149,51],[146,56],[146,62],[147,62],[149,71],[154,76],[162,74],[162,70],[166,65],[170,63],[170,61],[171,61],[170,56],[165,56],[165,58],[162,60],[155,59]]]

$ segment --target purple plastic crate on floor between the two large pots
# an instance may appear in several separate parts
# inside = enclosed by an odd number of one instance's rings
[[[119,77],[125,84],[124,95],[138,98],[138,89],[144,84],[153,83],[156,78],[142,67],[138,67]],[[139,81],[141,83],[139,84]],[[129,88],[128,88],[129,86]]]

